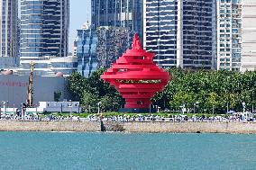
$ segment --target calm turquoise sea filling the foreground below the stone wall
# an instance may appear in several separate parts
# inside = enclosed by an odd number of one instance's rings
[[[1,132],[0,169],[256,169],[256,135]]]

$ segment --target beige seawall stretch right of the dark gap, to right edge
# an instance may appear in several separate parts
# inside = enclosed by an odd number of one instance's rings
[[[253,122],[105,122],[105,130],[151,133],[251,133]]]

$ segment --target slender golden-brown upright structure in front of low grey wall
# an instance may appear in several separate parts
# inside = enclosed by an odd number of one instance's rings
[[[33,84],[34,67],[35,67],[35,63],[31,62],[31,74],[30,74],[29,86],[28,86],[28,91],[27,91],[26,107],[32,107],[33,106],[33,88],[32,88],[32,84]]]

